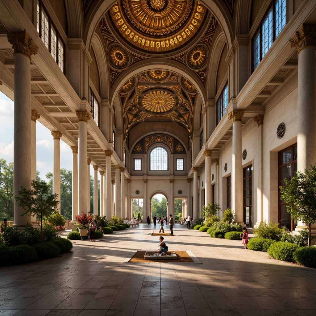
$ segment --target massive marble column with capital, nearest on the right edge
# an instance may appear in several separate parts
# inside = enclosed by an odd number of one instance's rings
[[[297,48],[297,171],[310,170],[316,157],[316,70],[315,25],[302,24],[289,40]],[[307,228],[308,224],[297,222],[295,230]],[[316,233],[316,224],[312,225]]]

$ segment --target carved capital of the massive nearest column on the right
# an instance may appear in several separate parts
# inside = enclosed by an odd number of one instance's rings
[[[298,53],[307,46],[316,46],[315,25],[303,23],[289,42],[291,47],[297,48]]]

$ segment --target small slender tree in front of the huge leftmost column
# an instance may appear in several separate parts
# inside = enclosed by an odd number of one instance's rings
[[[21,186],[18,191],[19,195],[15,195],[15,200],[22,209],[26,210],[21,216],[39,216],[40,217],[40,233],[43,242],[43,217],[52,214],[53,210],[57,210],[59,201],[58,194],[48,194],[49,186],[45,181],[31,182],[33,189],[27,190]]]

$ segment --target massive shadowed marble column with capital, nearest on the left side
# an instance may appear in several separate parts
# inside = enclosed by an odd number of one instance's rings
[[[14,49],[14,195],[21,186],[31,189],[31,56],[37,54],[38,47],[27,32],[8,33],[8,41]],[[14,205],[14,226],[24,227],[30,221],[25,212]]]

